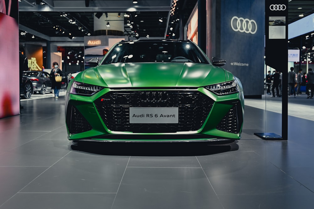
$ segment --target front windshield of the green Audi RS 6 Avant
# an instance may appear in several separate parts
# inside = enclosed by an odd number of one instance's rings
[[[102,65],[127,62],[195,62],[206,63],[203,53],[191,42],[128,41],[116,44]]]

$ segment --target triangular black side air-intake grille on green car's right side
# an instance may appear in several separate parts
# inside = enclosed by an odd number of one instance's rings
[[[242,124],[242,112],[240,105],[234,105],[225,117],[219,122],[216,129],[229,133],[240,133],[240,126]]]

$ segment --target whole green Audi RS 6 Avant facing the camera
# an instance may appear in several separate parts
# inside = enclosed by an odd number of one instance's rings
[[[69,140],[240,139],[241,82],[191,41],[121,41],[86,64],[67,89]]]

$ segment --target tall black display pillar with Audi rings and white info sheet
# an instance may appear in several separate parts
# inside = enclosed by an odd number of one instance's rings
[[[274,21],[273,21],[274,20]],[[278,21],[280,20],[280,21]],[[288,1],[265,0],[265,63],[282,72],[282,138],[288,139]],[[269,138],[275,139],[275,138]]]

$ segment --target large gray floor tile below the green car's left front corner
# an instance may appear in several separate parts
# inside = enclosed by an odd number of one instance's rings
[[[128,160],[72,151],[22,192],[116,192]]]

